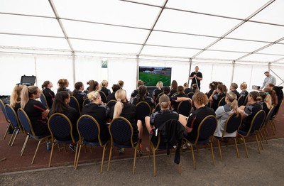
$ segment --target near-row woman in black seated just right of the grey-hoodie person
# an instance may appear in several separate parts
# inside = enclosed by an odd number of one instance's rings
[[[253,117],[258,111],[262,109],[261,104],[258,103],[258,101],[260,100],[261,97],[258,92],[250,92],[248,97],[248,106],[242,105],[239,107],[241,112],[241,118],[243,119],[243,122],[240,127],[241,131],[249,131]]]

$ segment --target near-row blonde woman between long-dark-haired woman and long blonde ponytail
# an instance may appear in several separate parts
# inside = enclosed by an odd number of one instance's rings
[[[109,128],[107,127],[107,116],[109,114],[109,108],[102,103],[102,98],[99,92],[89,92],[87,94],[90,104],[87,104],[82,109],[82,115],[87,114],[92,116],[99,123],[101,128],[100,137],[102,141],[109,139]]]

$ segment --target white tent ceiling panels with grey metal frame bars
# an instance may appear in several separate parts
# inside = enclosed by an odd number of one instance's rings
[[[279,64],[283,9],[281,0],[1,0],[0,53]]]

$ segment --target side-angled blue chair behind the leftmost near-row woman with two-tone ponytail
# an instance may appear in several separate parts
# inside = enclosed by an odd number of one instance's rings
[[[24,131],[26,131],[26,134],[28,136],[26,136],[26,141],[25,143],[23,143],[23,148],[21,151],[21,156],[23,155],[23,151],[25,151],[26,148],[26,143],[28,143],[28,138],[31,137],[33,139],[35,139],[36,141],[38,141],[38,146],[35,149],[35,154],[33,155],[33,160],[31,161],[31,164],[33,164],[33,161],[35,160],[35,155],[38,152],[38,147],[40,146],[40,144],[45,144],[43,143],[43,141],[48,141],[48,138],[50,138],[50,135],[45,135],[45,136],[35,136],[35,132],[33,131],[33,126],[31,124],[30,119],[28,118],[28,115],[26,114],[26,111],[24,111],[23,109],[18,109],[18,119],[20,120]]]

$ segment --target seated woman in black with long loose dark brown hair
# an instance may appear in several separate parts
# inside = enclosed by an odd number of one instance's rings
[[[78,138],[79,134],[77,131],[77,120],[79,119],[79,113],[76,111],[76,109],[69,106],[70,103],[70,95],[68,92],[62,91],[58,92],[58,94],[55,95],[55,99],[53,102],[53,107],[50,110],[50,116],[55,113],[61,113],[67,116],[68,119],[70,119],[72,123],[72,135],[74,138]],[[62,141],[67,141],[71,139],[71,136],[67,136],[66,138],[58,138]],[[71,143],[69,148],[71,151],[75,152],[76,150],[76,144]]]

